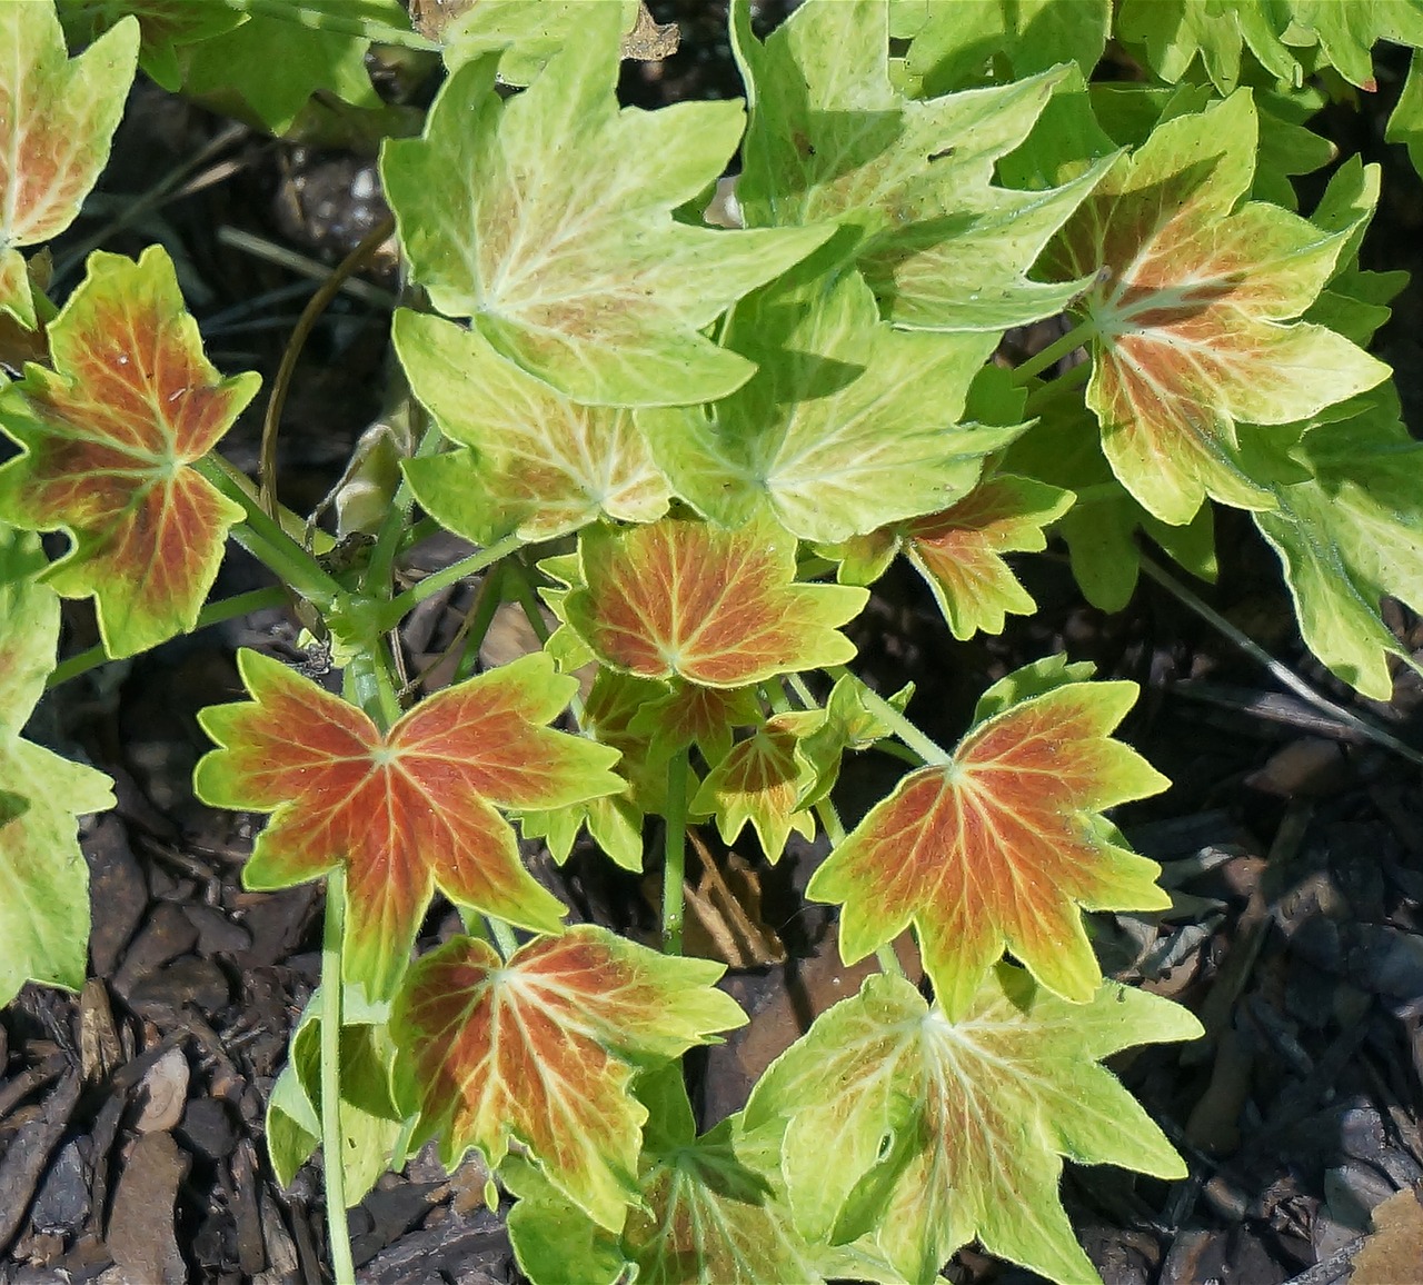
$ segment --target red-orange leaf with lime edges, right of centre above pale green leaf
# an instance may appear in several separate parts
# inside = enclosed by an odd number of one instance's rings
[[[1074,676],[1053,659],[990,687],[951,761],[905,777],[815,872],[807,895],[845,904],[847,963],[914,921],[951,1019],[1005,945],[1050,990],[1084,1002],[1101,971],[1077,906],[1170,904],[1158,867],[1101,817],[1167,784],[1110,737],[1136,684]]]

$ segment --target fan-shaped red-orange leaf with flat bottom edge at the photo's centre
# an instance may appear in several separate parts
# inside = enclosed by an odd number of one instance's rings
[[[736,531],[680,518],[591,527],[582,572],[561,609],[602,662],[707,687],[844,663],[855,649],[838,629],[869,596],[795,583],[795,539],[768,519]]]

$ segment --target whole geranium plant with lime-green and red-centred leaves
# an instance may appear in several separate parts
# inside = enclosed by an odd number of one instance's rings
[[[249,606],[209,601],[233,539],[344,673],[337,696],[243,652],[195,778],[269,814],[249,888],[326,884],[268,1140],[283,1178],[337,1157],[339,1279],[344,1207],[427,1138],[482,1153],[538,1282],[931,1281],[975,1238],[1090,1278],[1063,1157],[1184,1173],[1101,1060],[1200,1032],[1104,980],[1084,919],[1170,901],[1107,815],[1167,784],[1114,737],[1136,689],[1044,657],[946,749],[855,676],[845,630],[899,556],[955,638],[1002,630],[1035,609],[1005,555],[1053,535],[1116,609],[1144,539],[1210,576],[1224,505],[1278,551],[1318,657],[1389,696],[1412,662],[1382,599],[1423,610],[1423,448],[1366,347],[1402,279],[1359,268],[1373,168],[1345,159],[1308,213],[1291,178],[1333,159],[1306,122],[1376,88],[1375,44],[1423,44],[1423,4],[805,0],[761,40],[733,0],[746,102],[652,112],[616,98],[622,57],[666,53],[635,0],[413,9],[0,6],[0,1000],[83,982],[74,817],[110,804],[24,739],[46,680]],[[425,427],[379,444],[398,472],[337,571],[223,458],[258,377],[205,357],[166,253],[94,252],[60,306],[43,246],[135,65],[282,132],[332,100],[379,118],[373,41],[447,71],[380,162]],[[1423,139],[1417,64],[1389,131]],[[734,228],[704,215],[727,172]],[[1044,319],[1056,342],[996,356]],[[474,552],[411,581],[437,527]],[[542,650],[411,694],[401,622],[472,576]],[[102,655],[55,669],[61,596],[92,598]],[[875,747],[909,763],[847,834],[840,766]],[[699,1133],[682,1057],[746,1020],[720,965],[680,958],[687,827],[713,824],[770,862],[824,834],[808,897],[882,971]],[[571,925],[519,831],[660,872],[660,951]],[[467,935],[418,955],[437,895]]]

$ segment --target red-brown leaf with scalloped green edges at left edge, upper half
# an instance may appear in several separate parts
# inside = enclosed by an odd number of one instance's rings
[[[0,427],[24,454],[0,468],[0,511],[73,548],[50,575],[92,595],[111,656],[194,628],[242,509],[191,468],[258,388],[202,353],[166,253],[94,253],[50,323],[54,370],[26,367],[0,394]]]

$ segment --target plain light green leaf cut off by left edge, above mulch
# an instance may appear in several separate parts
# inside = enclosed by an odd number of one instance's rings
[[[0,1008],[27,980],[84,985],[88,865],[74,818],[114,805],[102,773],[20,736],[60,636],[43,566],[40,541],[0,524]]]

